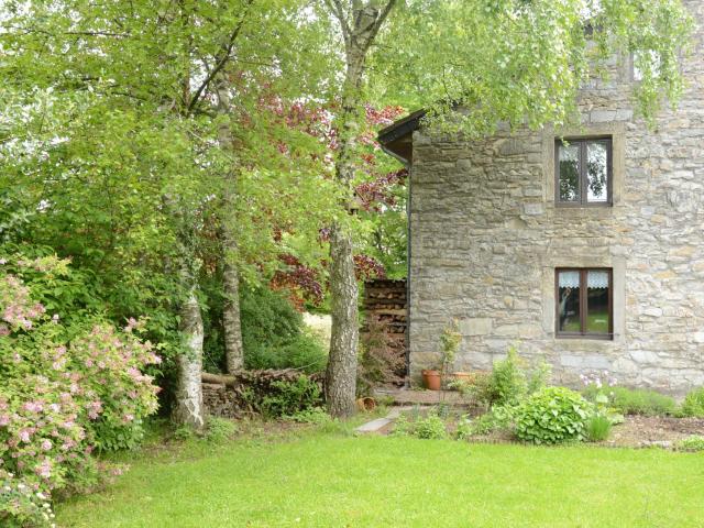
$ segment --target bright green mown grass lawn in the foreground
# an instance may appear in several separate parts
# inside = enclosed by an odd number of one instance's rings
[[[309,432],[139,457],[62,527],[695,527],[704,454]]]

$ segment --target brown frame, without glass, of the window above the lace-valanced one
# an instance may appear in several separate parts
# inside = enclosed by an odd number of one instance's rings
[[[580,145],[580,200],[566,201],[560,199],[560,146],[564,144]],[[586,144],[606,143],[606,201],[588,201],[586,185]],[[564,138],[554,140],[554,202],[558,207],[612,207],[612,187],[614,180],[614,140],[610,135],[588,138]]]

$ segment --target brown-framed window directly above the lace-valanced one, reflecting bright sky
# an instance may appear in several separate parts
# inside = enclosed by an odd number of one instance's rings
[[[610,138],[557,140],[554,152],[558,205],[612,204]]]

